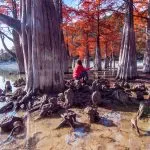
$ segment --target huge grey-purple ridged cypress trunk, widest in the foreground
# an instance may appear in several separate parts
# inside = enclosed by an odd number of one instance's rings
[[[22,0],[21,6],[26,90],[61,91],[61,29],[56,5],[50,0]]]

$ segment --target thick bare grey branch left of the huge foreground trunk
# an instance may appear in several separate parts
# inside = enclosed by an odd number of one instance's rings
[[[7,15],[0,13],[0,21],[9,27],[13,28],[18,34],[21,33],[21,22],[20,20],[14,19]]]

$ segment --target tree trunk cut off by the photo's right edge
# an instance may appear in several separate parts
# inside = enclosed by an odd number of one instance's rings
[[[147,45],[144,54],[143,72],[150,73],[150,0],[148,3],[148,19],[147,19]]]

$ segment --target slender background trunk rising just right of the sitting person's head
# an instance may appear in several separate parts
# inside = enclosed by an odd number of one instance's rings
[[[89,54],[89,43],[88,43],[88,33],[86,33],[86,48],[85,48],[85,57],[84,57],[84,65],[86,68],[90,67],[90,54]]]

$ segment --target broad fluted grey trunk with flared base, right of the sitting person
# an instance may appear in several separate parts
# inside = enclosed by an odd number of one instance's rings
[[[137,77],[133,0],[126,1],[126,10],[117,72],[117,78],[122,80],[134,79]]]

